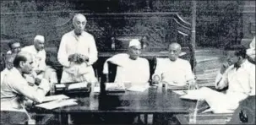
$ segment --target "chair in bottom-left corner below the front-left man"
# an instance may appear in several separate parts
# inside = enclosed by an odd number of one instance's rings
[[[22,111],[1,111],[1,124],[28,124],[29,116]]]

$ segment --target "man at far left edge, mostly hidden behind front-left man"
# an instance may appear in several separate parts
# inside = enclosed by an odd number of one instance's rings
[[[3,83],[4,77],[9,73],[12,68],[14,68],[14,58],[16,54],[7,54],[5,55],[4,63],[5,63],[5,68],[3,71],[1,71],[1,84]]]

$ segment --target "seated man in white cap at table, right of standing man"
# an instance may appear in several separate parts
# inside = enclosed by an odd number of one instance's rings
[[[128,52],[120,53],[110,57],[104,63],[103,73],[108,73],[107,63],[117,65],[115,82],[146,84],[150,79],[149,61],[139,57],[141,53],[141,43],[137,39],[129,41]]]

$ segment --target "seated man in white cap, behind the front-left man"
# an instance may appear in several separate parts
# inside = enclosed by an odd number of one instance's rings
[[[33,74],[35,83],[46,76],[52,76],[51,83],[57,83],[57,74],[52,68],[46,67],[46,51],[45,51],[45,37],[43,35],[35,35],[34,44],[25,46],[21,49],[22,52],[29,52],[33,55]],[[50,80],[50,78],[46,78]],[[33,81],[30,81],[33,83]]]

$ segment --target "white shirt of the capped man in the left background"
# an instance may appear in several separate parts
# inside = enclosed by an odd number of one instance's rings
[[[25,46],[21,49],[23,52],[29,52],[33,55],[33,68],[35,70],[46,70],[46,51],[37,51],[34,45]]]

